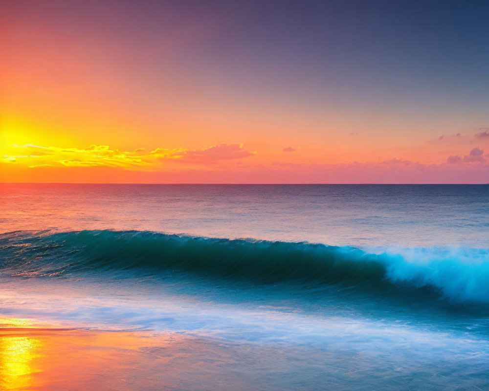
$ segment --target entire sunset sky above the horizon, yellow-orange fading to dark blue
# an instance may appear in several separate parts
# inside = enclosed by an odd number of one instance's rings
[[[489,183],[486,0],[0,0],[0,181]]]

